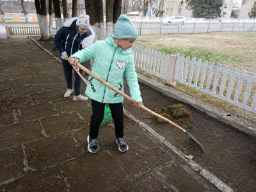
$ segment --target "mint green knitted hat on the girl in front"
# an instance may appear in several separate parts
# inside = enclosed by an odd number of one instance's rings
[[[115,24],[114,37],[118,39],[136,39],[138,31],[127,15],[122,14]]]

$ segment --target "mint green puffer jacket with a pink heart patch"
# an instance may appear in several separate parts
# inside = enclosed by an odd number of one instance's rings
[[[77,58],[80,63],[93,60],[93,74],[101,77],[122,92],[124,92],[125,74],[131,98],[136,102],[142,102],[138,77],[135,72],[133,52],[131,49],[124,51],[118,47],[113,40],[113,35],[110,35],[106,40],[99,40],[90,45],[90,47],[77,51],[70,58]],[[86,95],[91,99],[102,103],[123,102],[124,97],[93,77],[89,77],[88,80]]]

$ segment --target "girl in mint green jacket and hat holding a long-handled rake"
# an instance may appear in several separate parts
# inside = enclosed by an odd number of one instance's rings
[[[115,24],[114,35],[106,40],[99,40],[81,51],[70,56],[70,64],[76,67],[77,63],[93,60],[92,72],[104,81],[124,92],[124,75],[134,99],[140,107],[142,104],[140,86],[135,71],[134,57],[131,48],[138,38],[138,31],[127,15],[120,15]],[[121,152],[128,150],[124,139],[124,97],[114,92],[93,77],[89,77],[86,87],[86,95],[92,100],[92,117],[90,121],[90,134],[87,138],[88,151],[97,153],[99,144],[97,137],[100,123],[104,117],[104,106],[109,104],[111,114],[115,123],[116,143]]]

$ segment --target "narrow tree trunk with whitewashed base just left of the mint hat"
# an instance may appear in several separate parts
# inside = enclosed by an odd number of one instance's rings
[[[106,36],[113,34],[113,3],[114,0],[106,1]]]

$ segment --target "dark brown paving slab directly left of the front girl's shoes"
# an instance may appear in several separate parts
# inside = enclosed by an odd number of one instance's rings
[[[24,152],[28,163],[27,171],[38,172],[44,172],[45,168],[51,168],[82,154],[70,132],[25,143]]]

